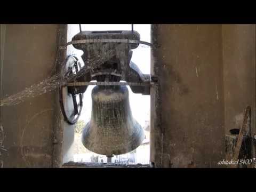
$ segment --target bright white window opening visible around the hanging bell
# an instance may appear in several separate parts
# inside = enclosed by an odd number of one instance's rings
[[[131,25],[81,25],[82,31],[106,31],[106,30],[131,30]],[[145,42],[151,41],[151,25],[133,25],[133,30],[138,31],[140,40]],[[79,25],[68,25],[67,42],[79,33]],[[150,61],[151,53],[150,47],[139,46],[137,49],[132,50],[133,55],[131,61],[135,62],[143,74],[150,74]],[[83,51],[76,50],[72,45],[67,47],[67,55],[75,54],[79,60]],[[83,63],[82,63],[83,65]],[[121,81],[122,82],[122,81]],[[110,159],[105,155],[95,154],[86,149],[81,141],[82,130],[91,117],[91,91],[94,85],[87,87],[83,98],[83,108],[81,116],[75,125],[64,125],[64,138],[63,138],[63,164],[74,162],[75,164],[105,164],[110,162]],[[133,118],[142,126],[145,133],[145,139],[142,144],[127,154],[116,155],[111,158],[111,163],[117,165],[148,165],[150,161],[150,95],[135,94],[129,89],[129,100]]]

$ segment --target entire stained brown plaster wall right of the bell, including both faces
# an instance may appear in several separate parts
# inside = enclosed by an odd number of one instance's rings
[[[246,105],[255,134],[255,25],[154,25],[153,42],[151,161],[218,167]]]

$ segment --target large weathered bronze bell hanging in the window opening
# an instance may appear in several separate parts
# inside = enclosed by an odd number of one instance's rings
[[[120,155],[136,149],[145,138],[133,118],[126,86],[95,86],[91,120],[83,129],[83,145],[94,153]]]

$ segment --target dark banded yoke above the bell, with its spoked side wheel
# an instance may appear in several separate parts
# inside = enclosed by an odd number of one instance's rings
[[[68,82],[60,87],[60,104],[65,120],[75,124],[81,114],[83,106],[83,93],[88,85],[115,86],[129,85],[133,93],[150,94],[150,75],[142,74],[139,67],[131,61],[132,49],[136,49],[140,43],[140,34],[137,31],[82,31],[76,34],[72,44],[84,54],[83,67],[91,67],[90,61],[95,55],[103,55],[108,50],[114,51],[114,57],[101,63],[100,66],[85,71],[75,81]],[[75,75],[82,69],[78,59],[70,55],[66,59],[63,73],[66,76]],[[97,82],[91,82],[91,81]],[[120,82],[125,81],[125,82]],[[65,102],[64,102],[65,101]],[[72,103],[72,105],[70,104]]]

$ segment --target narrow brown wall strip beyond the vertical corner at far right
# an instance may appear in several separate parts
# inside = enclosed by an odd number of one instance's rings
[[[222,25],[225,129],[239,129],[247,105],[255,133],[255,25]]]

